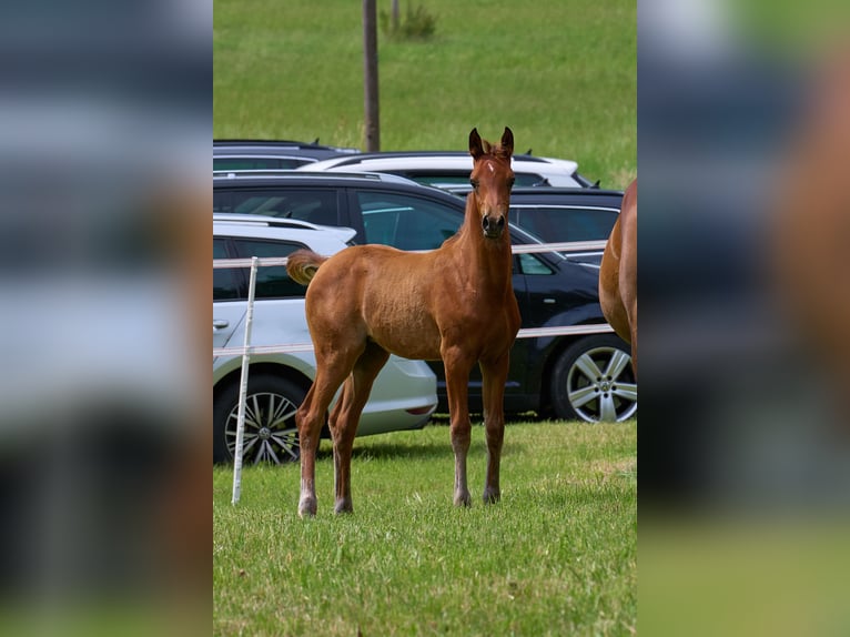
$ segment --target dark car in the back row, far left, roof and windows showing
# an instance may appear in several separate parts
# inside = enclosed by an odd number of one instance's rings
[[[360,150],[287,140],[213,140],[213,170],[292,170]]]

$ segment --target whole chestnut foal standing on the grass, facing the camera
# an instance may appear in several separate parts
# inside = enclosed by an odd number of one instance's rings
[[[472,505],[466,482],[472,433],[467,384],[478,363],[487,442],[483,499],[499,501],[505,382],[520,325],[507,225],[513,153],[509,128],[495,146],[472,130],[473,190],[466,198],[464,222],[436,250],[413,253],[366,244],[331,257],[307,250],[289,256],[290,277],[307,285],[305,311],[316,356],[315,380],[295,415],[301,439],[301,517],[316,514],[315,453],[325,414],[341,385],[342,394],[327,419],[334,512],[353,512],[353,441],[372,384],[391,353],[442,360],[445,365],[455,506]]]

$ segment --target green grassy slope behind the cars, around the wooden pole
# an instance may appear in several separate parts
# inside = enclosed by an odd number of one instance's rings
[[[497,140],[509,125],[517,152],[574,159],[625,188],[637,174],[636,4],[422,0],[433,39],[378,33],[382,150],[466,150],[473,127]],[[214,0],[214,136],[362,148],[362,42],[361,2]]]

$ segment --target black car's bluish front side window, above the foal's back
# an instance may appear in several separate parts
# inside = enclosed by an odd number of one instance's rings
[[[366,243],[401,250],[439,247],[463,222],[457,209],[406,194],[361,191],[356,205],[363,215]]]

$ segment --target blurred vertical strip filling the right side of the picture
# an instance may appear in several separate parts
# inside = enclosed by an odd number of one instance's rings
[[[847,18],[828,1],[638,7],[649,635],[850,627]]]

